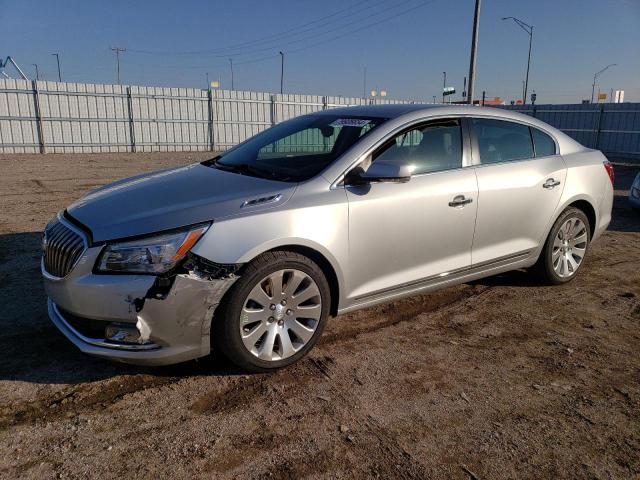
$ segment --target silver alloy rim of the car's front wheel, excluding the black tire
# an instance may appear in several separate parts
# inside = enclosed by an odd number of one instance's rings
[[[255,357],[284,360],[311,340],[321,316],[322,298],[314,280],[300,270],[278,270],[247,295],[240,314],[240,335]]]

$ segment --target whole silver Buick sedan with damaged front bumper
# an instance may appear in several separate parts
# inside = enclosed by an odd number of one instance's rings
[[[514,269],[572,280],[612,181],[602,153],[507,110],[325,110],[60,212],[43,236],[49,316],[100,357],[214,349],[275,369],[329,316]]]

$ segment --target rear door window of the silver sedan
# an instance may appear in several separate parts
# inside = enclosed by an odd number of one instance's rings
[[[485,118],[472,119],[472,125],[478,139],[480,163],[533,158],[533,143],[528,126]]]

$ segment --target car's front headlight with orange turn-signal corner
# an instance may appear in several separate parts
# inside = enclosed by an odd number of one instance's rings
[[[98,260],[101,272],[165,273],[184,258],[209,224],[107,245]]]

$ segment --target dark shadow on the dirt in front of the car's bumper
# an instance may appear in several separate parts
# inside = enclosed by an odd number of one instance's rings
[[[0,235],[0,380],[76,384],[118,375],[242,373],[219,358],[136,367],[85,355],[50,322],[40,275],[39,232]]]

